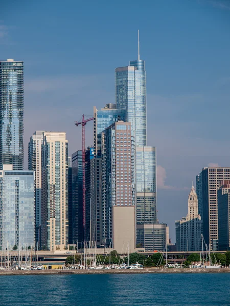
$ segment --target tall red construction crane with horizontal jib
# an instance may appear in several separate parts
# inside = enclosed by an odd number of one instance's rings
[[[94,118],[86,119],[82,115],[82,121],[76,122],[75,125],[81,124],[82,127],[82,203],[83,203],[83,231],[85,236],[85,125],[88,121],[94,120]],[[85,238],[85,237],[84,237]]]

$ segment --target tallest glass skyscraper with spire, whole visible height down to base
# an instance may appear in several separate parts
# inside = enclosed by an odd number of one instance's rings
[[[156,216],[156,148],[147,147],[146,114],[146,70],[145,61],[140,59],[138,33],[138,57],[129,66],[115,69],[116,105],[126,111],[126,121],[131,123],[131,133],[135,138],[136,176],[136,233],[145,247],[148,226],[157,222]],[[145,234],[146,232],[146,234]],[[139,235],[140,234],[140,235]],[[147,238],[146,236],[146,238]]]

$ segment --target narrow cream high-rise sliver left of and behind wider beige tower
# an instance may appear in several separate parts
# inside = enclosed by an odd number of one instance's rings
[[[35,184],[35,243],[41,247],[41,145],[43,132],[36,131],[28,144],[28,169],[34,171]]]

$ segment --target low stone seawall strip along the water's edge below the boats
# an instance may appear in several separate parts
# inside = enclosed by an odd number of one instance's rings
[[[230,268],[220,268],[220,269],[154,269],[154,268],[145,268],[145,269],[131,269],[131,270],[0,270],[1,275],[74,275],[74,274],[171,274],[171,273],[230,273]]]

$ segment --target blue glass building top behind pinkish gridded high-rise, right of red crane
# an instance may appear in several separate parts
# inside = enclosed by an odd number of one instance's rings
[[[106,104],[100,111],[94,107],[94,149],[95,157],[101,156],[101,133],[113,122],[126,121],[126,111],[118,110],[115,104]]]

